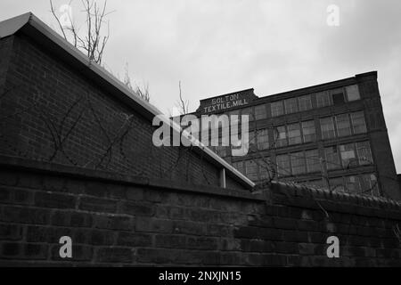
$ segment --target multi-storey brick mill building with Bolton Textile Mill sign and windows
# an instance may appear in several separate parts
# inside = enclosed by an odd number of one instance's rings
[[[375,71],[263,97],[224,94],[201,100],[193,114],[249,115],[246,155],[211,148],[255,183],[401,198]]]

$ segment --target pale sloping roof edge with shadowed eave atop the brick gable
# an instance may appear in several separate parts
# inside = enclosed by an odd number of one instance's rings
[[[150,121],[154,116],[162,114],[162,112],[151,103],[133,94],[126,85],[118,78],[111,75],[106,69],[103,69],[93,61],[89,61],[84,53],[81,53],[75,46],[71,45],[52,28],[48,27],[42,20],[39,20],[32,12],[27,12],[0,22],[0,38],[19,33],[30,37],[33,41],[47,48],[58,56],[61,61],[78,69],[79,72],[94,80],[97,85],[100,85],[103,90],[119,99],[119,101],[124,102]],[[177,132],[181,130],[179,125],[171,122],[167,117],[164,119],[164,122],[172,126]],[[193,139],[192,142],[195,142],[197,145],[197,147],[194,148],[195,151],[202,152],[205,158],[209,159],[215,166],[222,169],[224,168],[226,175],[229,175],[234,180],[241,183],[245,188],[250,189],[255,186],[255,183],[251,182],[249,178],[242,175],[241,172],[232,167],[224,159],[217,156],[214,151],[211,151],[197,140]]]

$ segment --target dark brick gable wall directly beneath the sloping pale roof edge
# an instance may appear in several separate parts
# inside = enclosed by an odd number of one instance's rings
[[[219,169],[207,158],[189,148],[155,147],[151,119],[29,37],[1,39],[0,54],[0,153],[219,184]]]

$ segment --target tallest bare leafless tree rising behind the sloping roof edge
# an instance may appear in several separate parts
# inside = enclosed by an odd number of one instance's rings
[[[52,0],[50,0],[50,9],[61,29],[62,36],[72,45],[86,53],[90,61],[102,64],[104,47],[107,45],[110,36],[109,20],[106,19],[110,14],[110,12],[106,12],[107,1],[105,0],[102,5],[97,4],[94,0],[82,0],[81,3],[84,7],[82,12],[86,14],[86,30],[83,35],[80,35],[79,28],[76,27],[71,19],[70,13],[68,13],[70,24],[65,26],[61,24],[60,17],[54,11]],[[107,25],[105,32],[104,24]],[[72,38],[69,39],[69,36]]]

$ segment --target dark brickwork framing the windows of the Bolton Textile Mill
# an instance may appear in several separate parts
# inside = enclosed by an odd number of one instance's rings
[[[346,86],[356,85],[358,88],[358,93],[360,98],[357,100],[342,102],[342,103],[331,103],[330,106],[318,106],[317,94],[327,93],[332,90],[342,90]],[[249,90],[245,90],[239,93],[249,93]],[[345,95],[345,91],[344,96]],[[272,114],[272,103],[274,102],[284,102],[287,99],[297,99],[300,96],[310,96],[310,106],[309,110],[299,110],[292,113],[282,113],[279,116],[273,116]],[[225,97],[225,95],[222,95]],[[344,97],[345,98],[345,97]],[[201,107],[204,102],[209,102],[210,99],[201,100]],[[193,114],[197,117],[201,117],[204,114],[204,109],[198,109]],[[266,113],[264,118],[254,119],[252,118],[252,108],[262,107],[263,112]],[[284,108],[284,105],[282,105]],[[298,107],[297,107],[298,108]],[[285,108],[284,108],[285,109]],[[318,157],[322,158],[323,167],[321,171],[302,171],[300,173],[292,173],[291,167],[285,169],[287,173],[281,176],[272,175],[274,180],[287,181],[287,182],[297,182],[306,185],[314,184],[315,186],[320,186],[321,188],[329,188],[326,182],[322,183],[322,177],[326,176],[330,179],[342,179],[340,185],[344,186],[345,191],[353,193],[364,193],[372,194],[375,196],[383,196],[390,199],[401,199],[401,191],[399,191],[399,183],[397,182],[396,167],[394,164],[394,159],[391,151],[391,146],[389,143],[389,134],[386,126],[386,122],[383,115],[383,108],[381,105],[381,94],[378,85],[378,73],[376,71],[366,72],[363,74],[358,74],[355,77],[349,77],[329,83],[324,83],[322,85],[309,86],[306,88],[293,90],[285,92],[282,94],[273,94],[263,97],[256,97],[249,104],[242,105],[241,107],[232,107],[227,110],[215,110],[214,113],[217,115],[230,114],[231,111],[239,111],[245,114],[250,114],[250,131],[254,130],[267,130],[267,137],[269,142],[268,148],[258,149],[256,146],[250,147],[250,151],[244,156],[233,157],[230,151],[216,150],[219,155],[225,158],[233,164],[234,167],[238,167],[242,173],[249,175],[250,178],[255,183],[263,183],[266,177],[261,174],[265,173],[262,167],[259,167],[258,171],[255,171],[250,167],[250,173],[247,173],[246,163],[250,160],[258,161],[260,157],[265,159],[271,159],[271,167],[277,171],[280,168],[277,166],[277,156],[287,155],[291,153],[292,155],[301,151],[318,151]],[[321,118],[335,118],[339,115],[347,115],[353,112],[363,112],[364,121],[366,124],[366,131],[360,134],[348,134],[348,135],[334,135],[331,138],[322,137],[322,129],[320,124]],[[255,116],[254,116],[255,117]],[[299,124],[299,122],[305,121],[315,122],[315,139],[310,142],[297,142],[297,143],[286,143],[284,146],[276,145],[276,135],[274,134],[274,128],[277,126]],[[349,123],[349,122],[348,122]],[[337,124],[337,123],[336,123]],[[337,126],[337,125],[336,125]],[[335,128],[335,127],[334,127]],[[301,127],[299,128],[300,131]],[[300,133],[299,133],[300,134]],[[250,134],[250,140],[256,142],[253,134]],[[348,166],[336,167],[336,169],[328,169],[327,174],[322,170],[324,168],[324,148],[332,147],[340,144],[352,144],[355,142],[368,142],[370,144],[370,150],[372,152],[372,161],[365,164],[354,164]],[[339,160],[340,161],[340,160]],[[289,164],[292,164],[289,161]],[[319,162],[320,163],[320,162]],[[326,164],[327,167],[327,164]],[[259,175],[256,175],[258,172]],[[288,173],[289,172],[289,173]],[[347,183],[342,177],[358,175],[375,175],[377,182],[374,183],[375,186],[369,187],[366,185],[361,185],[361,189],[356,191],[353,189],[347,189]],[[379,187],[376,187],[379,186]],[[331,183],[331,188],[333,187]],[[379,190],[377,191],[376,188]]]

